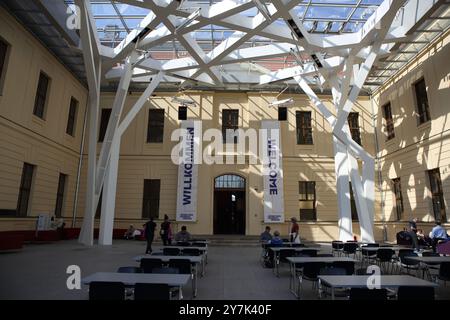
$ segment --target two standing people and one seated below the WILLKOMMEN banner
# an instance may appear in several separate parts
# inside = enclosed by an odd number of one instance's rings
[[[155,238],[155,230],[156,223],[153,221],[153,218],[144,224],[144,236],[147,241],[147,248],[145,249],[145,253],[152,253],[152,243]],[[172,225],[169,221],[169,217],[164,215],[164,221],[161,223],[161,229],[159,231],[159,235],[161,236],[161,240],[164,246],[172,244]],[[175,235],[176,242],[187,242],[192,239],[191,234],[187,231],[186,226],[181,227],[181,231]]]

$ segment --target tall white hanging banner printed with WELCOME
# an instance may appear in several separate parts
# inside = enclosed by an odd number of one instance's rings
[[[264,179],[264,222],[284,222],[283,168],[280,141],[280,123],[261,122],[262,142],[260,159]]]

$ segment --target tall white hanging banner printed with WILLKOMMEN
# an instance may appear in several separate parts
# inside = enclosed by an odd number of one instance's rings
[[[195,221],[197,219],[197,160],[200,150],[201,122],[185,120],[181,123],[181,128],[177,221]]]

